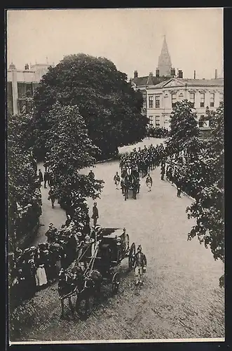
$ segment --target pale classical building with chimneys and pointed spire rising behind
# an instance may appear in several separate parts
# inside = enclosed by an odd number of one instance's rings
[[[170,128],[170,114],[175,102],[189,100],[193,102],[198,115],[199,126],[209,128],[209,121],[205,121],[205,110],[216,110],[219,102],[224,100],[224,79],[217,77],[215,69],[214,79],[184,79],[181,69],[172,67],[168,44],[163,39],[161,55],[158,57],[156,76],[150,72],[149,76],[138,77],[137,71],[130,79],[132,87],[142,92],[144,105],[142,114],[149,119],[149,126],[155,128]]]

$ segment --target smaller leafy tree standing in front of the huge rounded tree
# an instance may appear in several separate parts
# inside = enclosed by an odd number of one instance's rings
[[[79,170],[93,166],[100,150],[93,145],[77,106],[56,103],[46,115],[50,125],[46,131],[46,154],[48,167],[53,173],[56,198],[61,202],[76,197],[100,196],[102,180],[90,180]],[[64,201],[64,199],[66,199]]]

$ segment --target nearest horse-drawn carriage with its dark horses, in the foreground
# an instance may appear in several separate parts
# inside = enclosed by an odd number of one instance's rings
[[[95,233],[82,249],[67,272],[60,272],[58,293],[64,317],[64,300],[69,300],[69,307],[74,314],[71,298],[76,297],[76,312],[79,312],[81,300],[85,300],[85,314],[89,310],[90,296],[100,298],[102,284],[111,284],[111,293],[118,292],[120,276],[115,267],[124,258],[128,258],[129,270],[134,265],[135,243],[130,246],[129,235],[118,228],[102,228]]]

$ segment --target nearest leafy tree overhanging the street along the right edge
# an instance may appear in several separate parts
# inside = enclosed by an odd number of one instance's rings
[[[224,262],[224,107],[207,113],[212,128],[210,138],[195,165],[200,169],[200,186],[195,201],[186,209],[189,218],[196,218],[189,240],[197,236],[200,243],[210,247],[215,260]]]

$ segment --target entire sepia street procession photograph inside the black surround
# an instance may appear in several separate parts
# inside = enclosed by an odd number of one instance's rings
[[[223,16],[6,10],[10,345],[225,340]]]

